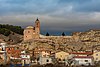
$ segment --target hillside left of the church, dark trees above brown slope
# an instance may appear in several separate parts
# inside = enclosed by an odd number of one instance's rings
[[[0,42],[20,43],[23,40],[23,29],[20,26],[0,24]]]

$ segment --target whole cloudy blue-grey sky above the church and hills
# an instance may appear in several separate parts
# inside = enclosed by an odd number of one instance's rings
[[[0,0],[0,23],[26,27],[36,18],[42,33],[100,29],[100,0]]]

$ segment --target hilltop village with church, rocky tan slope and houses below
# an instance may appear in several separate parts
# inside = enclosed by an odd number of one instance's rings
[[[73,32],[71,36],[40,34],[40,20],[24,29],[23,41],[0,44],[0,61],[11,64],[95,65],[100,61],[100,30]]]

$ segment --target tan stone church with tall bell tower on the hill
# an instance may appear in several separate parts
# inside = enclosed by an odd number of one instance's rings
[[[35,21],[35,26],[28,26],[24,29],[24,41],[30,39],[39,39],[40,37],[40,21],[38,18]]]

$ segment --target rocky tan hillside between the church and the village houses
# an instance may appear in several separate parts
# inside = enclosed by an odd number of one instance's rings
[[[72,36],[41,36],[40,39],[23,41],[21,44],[21,48],[28,50],[41,46],[67,52],[100,50],[100,30],[74,32]]]

